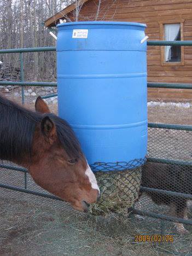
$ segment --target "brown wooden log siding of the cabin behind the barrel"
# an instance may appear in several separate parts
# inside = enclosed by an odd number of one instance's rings
[[[98,0],[87,1],[79,20],[95,20]],[[146,23],[149,40],[161,40],[160,24],[183,22],[183,39],[192,40],[191,0],[103,0],[97,20]],[[73,11],[68,14],[73,20]],[[163,46],[164,47],[164,46]],[[162,66],[160,46],[148,46],[148,82],[192,83],[192,47],[184,46],[183,66]],[[149,100],[190,101],[191,90],[148,89]]]

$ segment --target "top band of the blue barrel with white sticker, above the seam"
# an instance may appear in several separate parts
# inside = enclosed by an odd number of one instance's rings
[[[146,51],[145,24],[117,21],[80,21],[57,25],[57,51]],[[75,30],[84,30],[85,37],[74,37]],[[88,36],[89,32],[89,36]]]

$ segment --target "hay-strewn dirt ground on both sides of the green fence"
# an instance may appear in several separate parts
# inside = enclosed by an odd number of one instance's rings
[[[33,109],[32,100],[28,97],[26,103]],[[50,104],[50,109],[57,112],[54,104]],[[192,125],[192,108],[149,107],[148,120]],[[157,142],[154,144],[153,136],[149,138],[149,156],[191,160],[191,132],[154,130],[149,131],[149,136],[155,135]],[[4,173],[2,170],[1,183],[11,179],[9,184],[24,184],[22,177]],[[148,205],[152,207],[152,202],[147,201],[145,207]],[[166,211],[159,206],[156,210]],[[173,243],[134,241],[135,235],[161,234],[163,225],[164,234],[173,235]],[[94,217],[73,211],[64,202],[0,188],[0,255],[192,255],[192,226],[187,228],[189,235],[181,236],[171,222],[148,217]]]

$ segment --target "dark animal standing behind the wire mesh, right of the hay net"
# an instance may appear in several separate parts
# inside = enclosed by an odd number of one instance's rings
[[[141,185],[148,188],[192,194],[192,166],[147,162],[142,170]],[[170,206],[172,216],[187,218],[187,199],[152,191],[141,191],[140,195],[143,193],[147,193],[158,205]],[[176,223],[176,227],[178,232],[187,232],[181,223]]]

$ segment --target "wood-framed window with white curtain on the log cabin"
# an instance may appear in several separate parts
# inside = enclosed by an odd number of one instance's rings
[[[183,40],[183,19],[175,18],[170,21],[159,22],[160,40],[182,41]],[[184,49],[183,46],[161,46],[162,66],[183,66]]]

